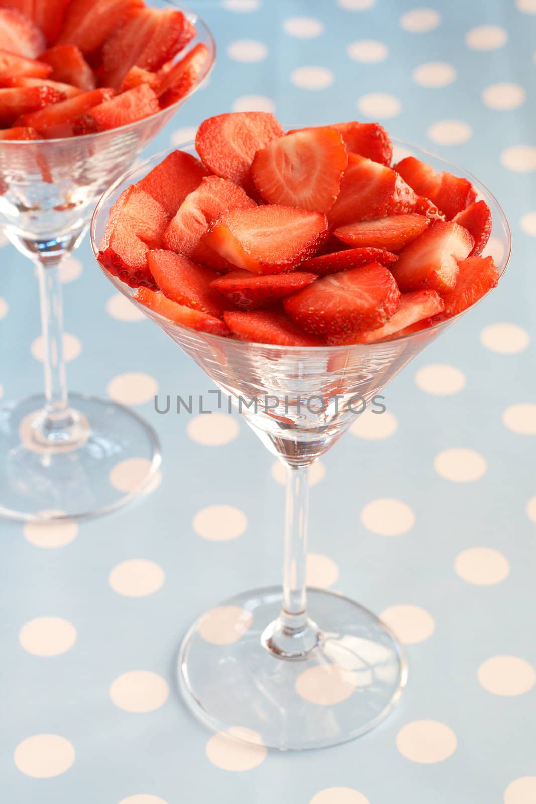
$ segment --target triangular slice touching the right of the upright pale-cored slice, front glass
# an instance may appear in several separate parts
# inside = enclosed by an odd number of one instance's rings
[[[415,209],[417,196],[395,170],[366,157],[348,154],[348,167],[338,199],[329,209],[332,227]]]

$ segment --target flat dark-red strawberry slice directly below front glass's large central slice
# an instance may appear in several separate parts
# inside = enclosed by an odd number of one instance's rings
[[[249,271],[232,271],[219,277],[211,287],[242,310],[259,310],[274,301],[311,285],[317,279],[314,273],[276,273],[256,276]]]

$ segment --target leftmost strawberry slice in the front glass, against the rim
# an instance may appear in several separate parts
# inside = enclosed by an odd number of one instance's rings
[[[170,216],[164,207],[131,185],[110,210],[98,260],[109,273],[131,288],[155,288],[147,265],[147,252],[162,248],[162,235]]]

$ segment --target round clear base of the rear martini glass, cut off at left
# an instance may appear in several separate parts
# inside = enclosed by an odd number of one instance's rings
[[[153,429],[111,400],[69,396],[76,439],[35,430],[43,396],[0,406],[0,516],[29,522],[104,514],[149,490],[161,456]]]

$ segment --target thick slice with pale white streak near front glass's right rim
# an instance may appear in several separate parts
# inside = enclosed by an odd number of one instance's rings
[[[421,288],[446,293],[456,284],[457,263],[473,249],[467,229],[437,221],[404,248],[393,265],[393,275],[403,293]]]

